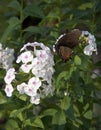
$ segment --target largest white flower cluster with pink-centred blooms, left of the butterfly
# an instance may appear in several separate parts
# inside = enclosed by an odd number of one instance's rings
[[[33,50],[29,50],[28,47]],[[52,94],[52,75],[54,73],[53,55],[48,47],[43,43],[27,43],[21,49],[21,54],[17,58],[17,63],[22,63],[20,71],[24,73],[32,73],[28,81],[17,85],[19,94],[26,94],[30,96],[30,102],[34,104],[40,103],[40,98]],[[10,72],[9,72],[10,71]],[[12,72],[11,72],[12,71]],[[7,71],[5,76],[7,96],[12,96],[13,88],[12,80],[15,78],[14,69]],[[9,85],[8,85],[9,84]]]

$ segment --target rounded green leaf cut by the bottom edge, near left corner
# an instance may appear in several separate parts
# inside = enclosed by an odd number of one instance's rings
[[[15,120],[8,120],[5,126],[6,130],[19,130],[18,123]]]

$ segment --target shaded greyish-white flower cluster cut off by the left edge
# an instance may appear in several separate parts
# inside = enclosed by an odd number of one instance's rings
[[[14,61],[14,49],[5,48],[3,49],[0,43],[0,65],[1,68],[8,70],[12,67]]]

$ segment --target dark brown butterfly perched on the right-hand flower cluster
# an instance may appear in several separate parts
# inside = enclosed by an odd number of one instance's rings
[[[64,33],[59,36],[55,43],[55,50],[60,54],[64,61],[70,59],[73,48],[79,44],[79,37],[81,35],[79,29],[74,29],[69,33]]]

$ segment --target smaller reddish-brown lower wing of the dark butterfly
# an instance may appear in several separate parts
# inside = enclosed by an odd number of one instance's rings
[[[65,46],[60,46],[59,53],[61,55],[61,58],[66,61],[69,60],[72,54],[72,49]]]

